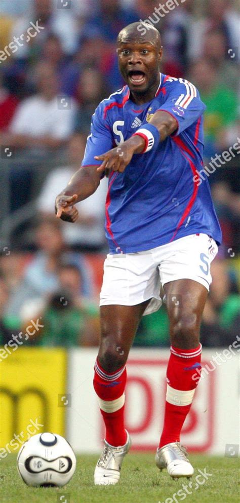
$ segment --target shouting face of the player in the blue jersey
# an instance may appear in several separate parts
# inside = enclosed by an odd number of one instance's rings
[[[144,93],[158,81],[162,48],[151,42],[121,42],[117,48],[119,69],[130,91]]]

